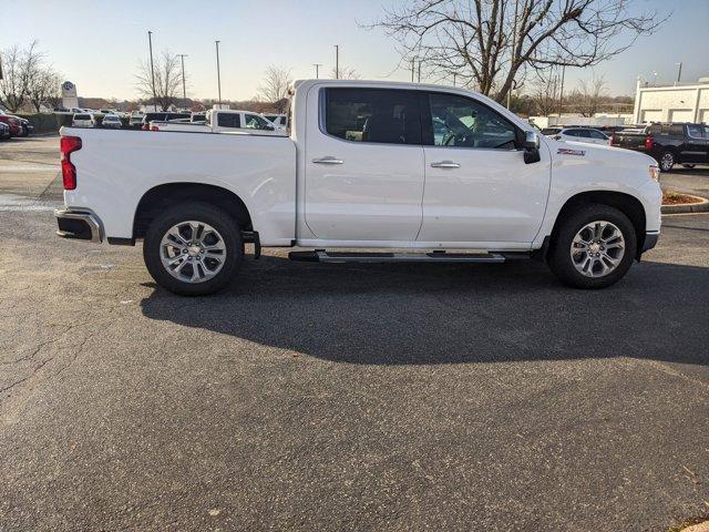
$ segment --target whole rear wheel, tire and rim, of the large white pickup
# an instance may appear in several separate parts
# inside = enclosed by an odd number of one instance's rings
[[[183,203],[158,215],[143,242],[145,266],[175,294],[203,296],[226,287],[244,258],[242,233],[220,208]]]

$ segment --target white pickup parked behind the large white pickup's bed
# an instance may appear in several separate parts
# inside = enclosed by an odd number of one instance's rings
[[[214,109],[206,113],[204,124],[176,123],[175,121],[151,122],[151,131],[188,131],[192,133],[242,132],[259,135],[286,135],[285,130],[276,127],[268,120],[251,111],[232,111]]]

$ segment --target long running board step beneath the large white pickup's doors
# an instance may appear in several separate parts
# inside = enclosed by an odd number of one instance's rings
[[[290,252],[290,260],[309,263],[504,263],[506,258],[499,253],[350,253]]]

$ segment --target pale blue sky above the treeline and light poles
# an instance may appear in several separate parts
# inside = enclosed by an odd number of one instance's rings
[[[394,42],[361,24],[403,0],[0,0],[0,49],[33,39],[80,96],[135,100],[137,63],[153,50],[185,53],[187,95],[216,98],[215,40],[220,40],[222,96],[253,98],[268,65],[291,69],[294,79],[326,76],[335,66],[356,69],[362,79],[408,80],[399,70]],[[567,69],[568,90],[602,76],[613,95],[633,95],[638,75],[672,82],[677,62],[682,81],[709,76],[709,0],[634,0],[634,10],[671,17],[653,35],[594,69]],[[654,75],[657,72],[657,76]]]

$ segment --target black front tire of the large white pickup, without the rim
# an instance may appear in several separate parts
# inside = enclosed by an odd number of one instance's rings
[[[608,274],[600,277],[588,277],[582,274],[572,259],[572,243],[576,234],[587,224],[605,221],[614,224],[623,234],[625,247],[620,262]],[[633,265],[637,253],[637,235],[628,217],[615,207],[598,203],[589,203],[576,208],[564,219],[552,235],[547,264],[554,275],[564,284],[575,288],[605,288],[617,283]]]

